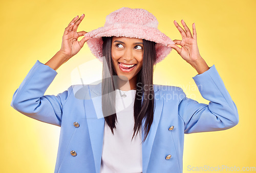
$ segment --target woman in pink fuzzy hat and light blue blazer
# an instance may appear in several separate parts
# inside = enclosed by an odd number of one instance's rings
[[[36,62],[11,103],[61,127],[55,172],[182,172],[184,133],[237,125],[236,105],[215,66],[199,54],[195,23],[192,35],[183,20],[185,31],[174,21],[182,40],[172,41],[143,9],[118,9],[89,33],[77,32],[83,18],[69,23],[60,51],[46,64]],[[85,42],[103,62],[102,83],[44,95],[55,70]],[[187,98],[179,87],[153,85],[154,65],[172,48],[197,70],[193,79],[209,105]]]

